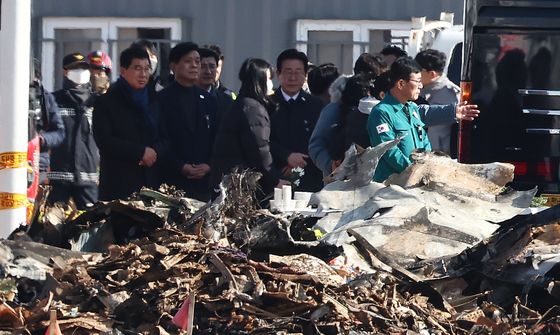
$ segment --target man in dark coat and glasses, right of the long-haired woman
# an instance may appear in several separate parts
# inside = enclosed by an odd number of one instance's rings
[[[296,190],[317,192],[323,187],[323,175],[309,159],[308,146],[323,104],[302,90],[308,67],[303,52],[296,49],[282,51],[276,67],[280,88],[273,96],[278,109],[270,120],[272,157],[287,179],[297,178],[292,172],[295,168],[304,169]]]

